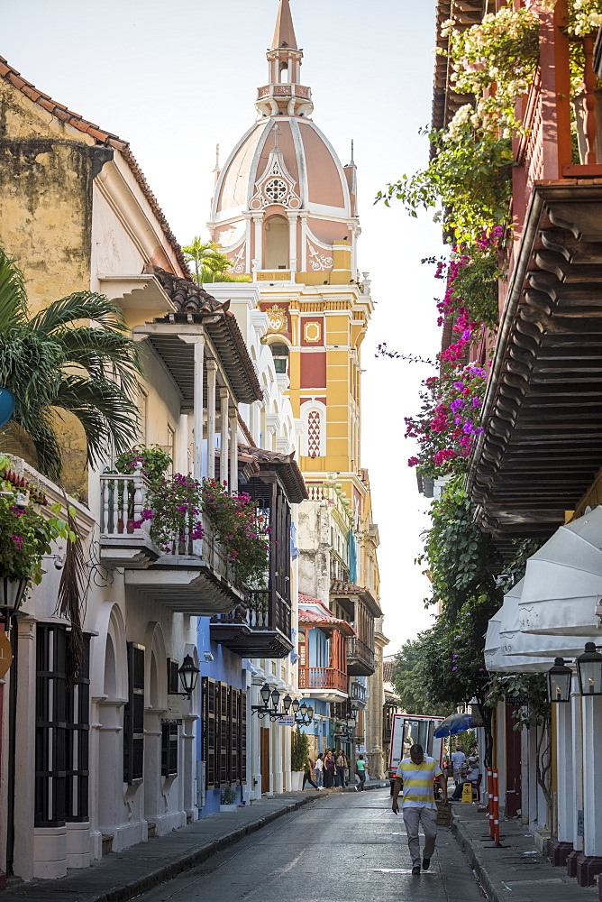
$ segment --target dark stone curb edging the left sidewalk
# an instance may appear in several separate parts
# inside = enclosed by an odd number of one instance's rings
[[[315,801],[316,797],[320,796],[300,798],[298,801],[291,802],[290,805],[278,809],[278,811],[272,811],[268,815],[262,815],[261,817],[258,817],[256,821],[251,821],[251,824],[246,824],[246,826],[240,827],[238,830],[233,830],[231,833],[225,833],[224,836],[221,836],[220,839],[215,840],[214,842],[207,842],[191,855],[186,855],[179,861],[174,861],[172,864],[165,865],[150,874],[146,874],[141,879],[117,888],[113,892],[105,893],[103,896],[90,900],[90,902],[129,902],[130,899],[148,892],[149,889],[153,889],[160,886],[161,883],[166,883],[168,880],[178,877],[178,874],[196,868],[199,864],[203,864],[204,861],[211,858],[216,852],[228,849],[236,842],[241,842],[245,836],[256,833],[262,827],[271,824],[272,821],[278,820],[278,817],[281,817],[282,815],[289,815],[291,812],[297,811],[303,805]]]

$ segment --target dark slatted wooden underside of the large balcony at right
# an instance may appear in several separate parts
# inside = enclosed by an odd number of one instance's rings
[[[478,521],[545,537],[602,465],[602,185],[535,186],[471,458]]]

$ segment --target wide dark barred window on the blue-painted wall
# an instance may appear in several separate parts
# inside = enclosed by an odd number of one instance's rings
[[[203,677],[203,759],[205,787],[247,780],[247,694],[210,676]]]

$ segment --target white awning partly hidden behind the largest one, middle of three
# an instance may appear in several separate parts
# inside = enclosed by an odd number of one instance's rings
[[[549,658],[576,658],[582,654],[588,642],[586,636],[544,636],[522,632],[518,615],[518,605],[523,594],[524,579],[519,580],[504,595],[501,607],[499,636],[502,653],[517,657],[540,658],[547,670],[552,665]]]

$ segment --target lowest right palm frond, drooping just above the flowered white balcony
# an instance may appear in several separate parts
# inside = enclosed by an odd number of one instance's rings
[[[138,408],[114,382],[64,376],[54,404],[73,413],[84,428],[90,465],[105,463],[112,443],[119,453],[139,437]]]

